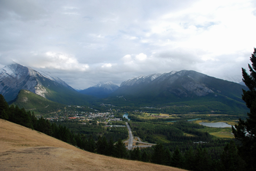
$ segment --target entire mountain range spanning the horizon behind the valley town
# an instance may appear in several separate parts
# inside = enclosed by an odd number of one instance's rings
[[[218,104],[234,111],[247,108],[241,99],[247,87],[214,78],[196,71],[171,71],[140,75],[121,83],[99,84],[77,92],[50,73],[37,72],[20,64],[0,70],[0,93],[6,101],[15,99],[25,89],[60,104],[89,105],[104,102],[113,105],[181,105]],[[26,93],[23,92],[23,95]],[[122,97],[122,98],[120,98]],[[216,103],[217,102],[217,103]]]

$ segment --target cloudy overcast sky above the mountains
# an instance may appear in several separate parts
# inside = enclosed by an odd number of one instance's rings
[[[180,70],[240,82],[254,47],[255,0],[0,1],[0,67],[76,89]]]

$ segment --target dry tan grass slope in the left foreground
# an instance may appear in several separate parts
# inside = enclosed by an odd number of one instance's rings
[[[2,119],[0,144],[0,170],[183,170],[97,155]]]

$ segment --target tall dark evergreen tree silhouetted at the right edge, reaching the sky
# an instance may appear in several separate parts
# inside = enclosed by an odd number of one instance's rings
[[[242,142],[242,146],[238,148],[239,154],[247,164],[247,170],[255,170],[256,168],[256,48],[250,58],[252,65],[248,64],[250,74],[242,69],[243,82],[249,90],[243,90],[242,99],[246,106],[250,108],[247,113],[246,121],[239,119],[232,131],[235,138]]]

